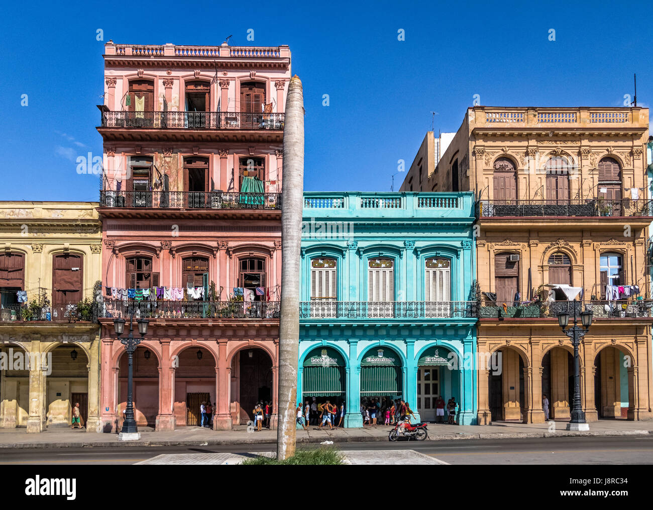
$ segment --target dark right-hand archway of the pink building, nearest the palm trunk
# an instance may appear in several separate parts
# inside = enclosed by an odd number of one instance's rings
[[[257,402],[272,401],[272,358],[260,347],[246,347],[234,355],[231,375],[232,420],[246,424]]]

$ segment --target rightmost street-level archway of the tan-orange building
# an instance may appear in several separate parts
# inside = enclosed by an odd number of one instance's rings
[[[594,405],[600,419],[627,419],[629,407],[635,407],[629,401],[631,364],[631,357],[612,345],[594,358]]]

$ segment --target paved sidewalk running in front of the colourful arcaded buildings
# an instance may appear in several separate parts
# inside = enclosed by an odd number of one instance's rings
[[[504,438],[550,438],[559,436],[639,436],[653,434],[653,421],[599,420],[590,423],[589,432],[568,432],[566,422],[556,422],[556,430],[550,431],[547,423],[497,422],[492,425],[446,425],[429,424],[428,439],[504,439]],[[297,431],[297,443],[353,443],[360,441],[387,441],[390,426],[378,425],[365,428],[339,428],[334,430]],[[16,448],[80,448],[80,447],[130,447],[130,446],[208,446],[208,445],[254,445],[276,443],[276,430],[248,432],[246,426],[234,430],[210,430],[201,427],[180,427],[174,432],[155,432],[140,428],[140,441],[118,441],[118,434],[86,432],[71,428],[50,428],[40,434],[27,434],[24,428],[0,428],[0,450]]]

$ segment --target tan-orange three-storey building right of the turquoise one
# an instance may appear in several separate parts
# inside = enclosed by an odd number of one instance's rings
[[[477,195],[478,349],[502,367],[479,371],[479,424],[545,421],[544,395],[549,418],[569,419],[563,310],[594,313],[587,421],[651,417],[647,140],[647,108],[476,106],[423,185]]]

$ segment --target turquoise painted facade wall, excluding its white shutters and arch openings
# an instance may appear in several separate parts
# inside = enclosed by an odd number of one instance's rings
[[[298,401],[307,355],[333,347],[346,365],[345,426],[362,426],[360,360],[370,349],[390,349],[402,362],[402,396],[419,419],[417,363],[439,345],[459,360],[458,370],[441,368],[443,396],[456,398],[458,422],[475,422],[476,371],[463,368],[476,356],[473,203],[471,192],[304,193]],[[311,261],[321,257],[336,261],[332,308],[311,302]],[[383,313],[367,306],[368,264],[379,257],[394,267],[394,296]],[[451,262],[451,300],[435,306],[425,302],[424,278],[434,257]]]

